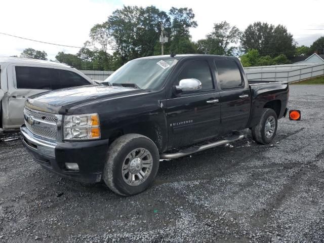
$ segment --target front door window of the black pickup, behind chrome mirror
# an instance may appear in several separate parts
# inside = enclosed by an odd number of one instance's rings
[[[178,76],[177,83],[184,78],[196,78],[201,82],[201,90],[214,89],[213,79],[208,63],[205,60],[190,61],[185,64]]]

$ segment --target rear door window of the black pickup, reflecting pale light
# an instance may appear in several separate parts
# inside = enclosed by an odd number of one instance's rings
[[[237,64],[231,60],[215,60],[221,89],[242,86],[242,76]]]

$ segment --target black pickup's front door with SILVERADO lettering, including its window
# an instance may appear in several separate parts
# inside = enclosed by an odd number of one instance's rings
[[[214,137],[220,124],[219,98],[207,60],[186,61],[173,80],[179,85],[184,78],[196,78],[202,88],[199,91],[176,94],[167,100],[169,148],[181,147]]]

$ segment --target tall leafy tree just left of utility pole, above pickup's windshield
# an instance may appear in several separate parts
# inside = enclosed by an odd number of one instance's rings
[[[121,63],[152,55],[159,39],[160,23],[170,31],[170,17],[154,6],[146,8],[124,6],[108,17],[115,58]]]

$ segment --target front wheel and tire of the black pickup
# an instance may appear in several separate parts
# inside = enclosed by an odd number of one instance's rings
[[[158,165],[159,153],[152,140],[139,134],[123,135],[108,148],[103,180],[117,194],[135,195],[153,182]]]

